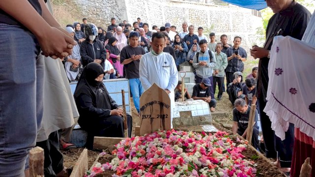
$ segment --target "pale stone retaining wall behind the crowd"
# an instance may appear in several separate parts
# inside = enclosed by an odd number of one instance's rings
[[[253,16],[252,10],[234,5],[216,5],[204,2],[180,0],[77,0],[76,3],[83,9],[83,14],[94,18],[97,25],[108,26],[110,19],[115,17],[117,24],[127,20],[132,25],[137,17],[147,22],[150,29],[153,25],[164,26],[166,22],[181,31],[182,23],[188,22],[205,29],[207,37],[209,32],[215,32],[217,41],[220,35],[226,34],[229,43],[234,36],[243,38],[241,46],[249,51],[257,41],[256,28],[262,26],[261,18]]]

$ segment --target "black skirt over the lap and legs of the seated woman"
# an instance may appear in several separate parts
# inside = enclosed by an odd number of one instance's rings
[[[132,118],[127,115],[128,137],[131,137]],[[88,130],[86,148],[93,149],[94,137],[125,137],[124,119],[120,116],[109,116],[95,122]]]

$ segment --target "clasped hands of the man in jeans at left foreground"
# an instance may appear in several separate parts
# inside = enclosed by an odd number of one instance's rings
[[[72,46],[77,43],[61,30],[50,27],[44,36],[36,36],[40,44],[42,55],[53,59],[62,59],[72,54]],[[71,49],[69,49],[71,48]]]

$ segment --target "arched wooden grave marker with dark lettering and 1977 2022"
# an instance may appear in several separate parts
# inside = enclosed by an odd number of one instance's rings
[[[154,83],[140,97],[140,135],[171,129],[171,100]]]

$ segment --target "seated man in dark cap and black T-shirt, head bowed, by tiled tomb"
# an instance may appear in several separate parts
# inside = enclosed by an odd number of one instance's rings
[[[210,111],[215,112],[217,100],[211,98],[211,82],[209,78],[203,78],[200,84],[196,84],[192,89],[192,99],[203,100],[209,103]]]

